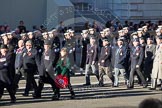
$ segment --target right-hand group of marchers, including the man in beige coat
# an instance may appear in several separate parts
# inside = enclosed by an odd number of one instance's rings
[[[104,86],[103,75],[107,74],[113,87],[119,86],[119,74],[123,75],[128,89],[134,88],[134,76],[144,88],[151,82],[151,90],[161,85],[162,26],[150,35],[147,26],[129,34],[124,27],[115,37],[109,28],[100,32],[83,30],[81,35],[82,59],[80,71],[85,69],[85,85],[90,85],[90,68],[96,75],[99,86]],[[85,56],[86,55],[86,56]],[[161,90],[160,86],[160,90]]]

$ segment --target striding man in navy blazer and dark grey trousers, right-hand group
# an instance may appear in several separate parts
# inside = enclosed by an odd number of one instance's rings
[[[141,72],[141,64],[144,58],[143,48],[140,46],[139,38],[133,39],[133,47],[131,52],[131,71],[129,75],[128,88],[134,88],[134,74],[137,72],[142,81],[143,87],[147,87],[147,82]]]

